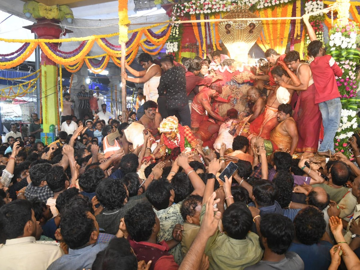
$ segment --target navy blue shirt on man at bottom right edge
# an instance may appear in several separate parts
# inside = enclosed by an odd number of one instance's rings
[[[297,253],[304,262],[306,270],[327,270],[330,263],[330,249],[333,247],[327,241],[320,241],[310,246],[301,243],[291,243],[288,252]]]

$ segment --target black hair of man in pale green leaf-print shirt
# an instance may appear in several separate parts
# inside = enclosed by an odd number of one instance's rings
[[[148,186],[146,198],[157,210],[166,209],[169,206],[171,189],[172,186],[167,179],[154,180]]]

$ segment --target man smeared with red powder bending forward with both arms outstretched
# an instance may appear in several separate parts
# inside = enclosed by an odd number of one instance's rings
[[[221,98],[219,94],[221,94],[222,89],[220,84],[212,84],[210,88],[205,87],[203,90],[199,92],[194,97],[192,110],[191,110],[191,130],[196,132],[202,121],[206,121],[208,116],[205,112],[208,113],[211,117],[215,118],[220,122],[225,122],[224,118],[222,118],[219,114],[212,111],[210,101],[214,99],[218,102],[229,103],[231,97],[228,99]]]

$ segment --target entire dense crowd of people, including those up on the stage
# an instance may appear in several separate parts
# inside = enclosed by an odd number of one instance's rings
[[[36,113],[12,124],[0,268],[360,269],[360,137],[354,162],[335,153],[342,71],[303,19],[314,60],[267,50],[246,100],[222,95],[246,68],[219,51],[182,64],[142,53],[144,71],[126,66],[138,78],[121,75],[144,84],[136,112],[115,117],[82,85],[49,145]],[[234,100],[249,113],[214,105]]]

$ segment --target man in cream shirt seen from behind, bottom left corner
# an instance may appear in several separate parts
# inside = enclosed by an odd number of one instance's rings
[[[42,229],[31,202],[16,200],[0,209],[1,269],[46,270],[64,253],[58,244],[36,243]]]

